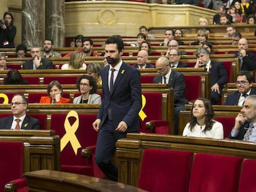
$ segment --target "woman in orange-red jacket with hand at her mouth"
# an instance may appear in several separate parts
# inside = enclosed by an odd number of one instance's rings
[[[59,81],[51,81],[47,87],[48,96],[42,96],[40,103],[44,104],[54,104],[54,103],[70,103],[70,99],[63,98],[62,86]]]

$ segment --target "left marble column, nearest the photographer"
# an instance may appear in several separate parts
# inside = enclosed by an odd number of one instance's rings
[[[42,44],[45,38],[45,1],[22,0],[22,43],[30,48]]]

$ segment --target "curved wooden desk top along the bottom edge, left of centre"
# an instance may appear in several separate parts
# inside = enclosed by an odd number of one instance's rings
[[[53,170],[27,172],[24,174],[24,177],[27,178],[27,185],[29,187],[29,191],[31,192],[144,191],[123,183]]]

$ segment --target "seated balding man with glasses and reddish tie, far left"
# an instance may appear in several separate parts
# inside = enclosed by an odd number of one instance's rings
[[[26,115],[27,106],[25,96],[15,94],[11,102],[12,115],[0,119],[0,129],[39,130],[39,120]]]

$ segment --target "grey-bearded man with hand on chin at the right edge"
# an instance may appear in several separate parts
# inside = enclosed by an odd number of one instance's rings
[[[244,107],[236,117],[229,139],[256,142],[256,95],[245,98]]]

